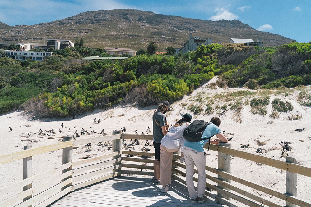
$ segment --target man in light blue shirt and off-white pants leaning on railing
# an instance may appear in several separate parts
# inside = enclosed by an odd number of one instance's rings
[[[211,137],[213,135],[217,136],[211,144],[218,145],[219,142],[227,143],[227,138],[221,133],[219,128],[220,119],[218,117],[213,117],[210,123],[206,126],[202,139]],[[186,164],[186,181],[187,187],[190,194],[191,203],[204,203],[207,200],[207,197],[204,195],[206,175],[205,175],[205,165],[206,165],[206,156],[204,152],[204,145],[208,142],[208,139],[201,140],[199,142],[189,142],[185,141],[183,145],[183,155],[185,157]],[[198,182],[197,182],[197,191],[194,189],[193,183],[193,168],[194,164],[197,166]]]

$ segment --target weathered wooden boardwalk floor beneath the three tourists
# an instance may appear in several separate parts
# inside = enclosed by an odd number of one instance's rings
[[[187,186],[176,180],[172,180],[170,190],[167,191],[167,193],[162,193],[161,187],[162,186],[154,185],[151,182],[151,178],[121,176],[80,188],[69,193],[67,196],[64,196],[50,206],[223,206],[217,204],[216,200],[211,198],[203,204],[192,204],[189,199]]]

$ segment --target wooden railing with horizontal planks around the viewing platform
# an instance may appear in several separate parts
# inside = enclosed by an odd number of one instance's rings
[[[122,139],[152,140],[152,135],[125,135],[120,132],[113,132],[114,135],[95,137],[87,139],[72,140],[72,137],[63,137],[63,142],[44,147],[31,148],[25,146],[24,151],[0,156],[0,164],[24,159],[24,179],[0,189],[3,195],[23,188],[23,191],[0,201],[0,206],[47,206],[64,195],[96,182],[101,182],[109,178],[120,176],[121,174],[153,175],[154,153],[142,151],[122,151]],[[94,142],[112,141],[113,152],[88,159],[72,161],[72,147],[86,145]],[[241,189],[231,184],[231,181],[245,185],[252,189],[269,194],[286,201],[286,206],[311,207],[309,201],[296,197],[296,174],[311,177],[311,169],[295,164],[294,158],[287,157],[283,162],[260,155],[230,149],[230,144],[220,143],[223,146],[211,145],[210,150],[218,152],[218,168],[206,166],[207,172],[214,173],[215,176],[206,173],[206,178],[215,184],[206,182],[210,191],[205,191],[207,196],[217,200],[218,203],[227,206],[237,206],[239,203],[252,206],[282,207],[280,203],[269,200],[253,192]],[[57,168],[47,170],[34,176],[32,175],[32,156],[42,153],[63,150],[62,165]],[[123,155],[123,156],[122,156]],[[137,157],[127,157],[125,155],[136,155]],[[277,169],[286,170],[286,192],[280,192],[270,187],[263,186],[253,181],[231,174],[231,156],[251,160],[257,163],[269,165]],[[143,156],[139,157],[139,156]],[[137,163],[137,164],[133,164]],[[143,163],[143,164],[139,164]],[[180,162],[180,155],[173,156],[172,178],[186,184],[185,164]],[[197,170],[194,169],[194,181],[197,182]],[[247,173],[247,172],[244,172]],[[217,177],[216,177],[217,175]],[[285,179],[285,178],[284,178]],[[39,183],[39,184],[37,184]],[[36,185],[34,185],[36,184]],[[213,193],[212,191],[216,191]],[[233,203],[232,200],[236,202]]]

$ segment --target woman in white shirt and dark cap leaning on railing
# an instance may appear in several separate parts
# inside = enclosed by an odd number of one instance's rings
[[[160,174],[161,174],[161,192],[169,190],[172,177],[173,153],[179,151],[183,146],[185,139],[183,131],[190,125],[192,116],[190,114],[180,114],[182,119],[177,121],[162,138],[160,146]]]

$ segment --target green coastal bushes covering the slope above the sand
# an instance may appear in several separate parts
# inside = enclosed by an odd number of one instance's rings
[[[53,50],[53,55],[44,61],[0,58],[0,113],[21,106],[38,116],[66,117],[118,103],[147,106],[161,99],[178,100],[214,75],[220,77],[215,86],[223,88],[274,89],[311,83],[310,43],[263,48],[211,44],[176,56],[171,54],[174,52],[171,48],[167,50],[170,54],[160,55],[150,55],[152,50],[142,49],[140,55],[125,60],[91,62],[81,60],[87,49],[83,48],[83,40],[76,41],[79,47],[81,43],[80,49]],[[106,54],[102,48],[89,51],[88,54]],[[223,94],[221,98],[233,101],[252,94],[241,90]],[[309,92],[302,90],[301,99],[308,105]],[[266,102],[265,98],[251,100],[252,112],[267,114]],[[275,111],[285,111],[285,107],[286,111],[292,110],[289,103],[276,102],[272,103]],[[240,112],[242,105],[237,99],[230,106],[220,106],[223,110],[230,107]],[[211,105],[188,108],[196,113],[213,110]]]

